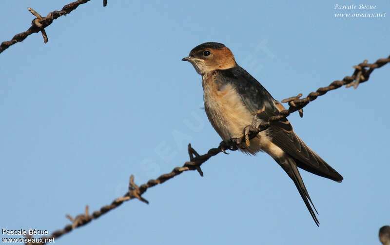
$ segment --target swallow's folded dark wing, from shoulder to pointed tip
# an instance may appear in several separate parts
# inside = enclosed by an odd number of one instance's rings
[[[251,112],[256,113],[265,108],[265,111],[259,114],[260,119],[268,121],[270,117],[279,114],[279,110],[283,106],[273,99],[271,94],[243,68],[236,66],[219,72],[222,76],[218,80],[225,80],[223,82],[234,85],[242,101]],[[279,109],[276,106],[279,106]],[[292,125],[287,119],[274,122],[265,132],[271,137],[274,144],[295,160],[298,167],[337,182],[343,180],[343,177],[336,170],[294,133]]]

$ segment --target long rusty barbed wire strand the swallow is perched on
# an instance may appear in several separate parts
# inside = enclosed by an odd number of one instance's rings
[[[249,144],[249,140],[255,137],[260,131],[267,129],[273,122],[277,122],[283,118],[288,117],[291,113],[295,111],[299,111],[300,116],[303,116],[303,107],[308,105],[313,100],[317,99],[318,96],[322,96],[327,92],[340,88],[344,85],[346,87],[353,86],[357,88],[357,86],[362,82],[367,82],[370,78],[371,73],[385,64],[390,62],[390,56],[388,58],[379,59],[372,64],[369,64],[367,60],[362,63],[353,66],[355,68],[353,74],[351,76],[347,76],[343,78],[343,80],[337,80],[331,82],[329,86],[318,88],[315,92],[309,93],[306,98],[300,99],[302,94],[297,96],[293,96],[287,99],[282,100],[284,103],[289,104],[289,108],[280,111],[280,114],[277,116],[273,116],[267,122],[262,122],[258,127],[254,127],[253,125],[248,125],[243,132],[243,136],[240,138],[234,138],[230,142],[222,141],[218,147],[211,148],[208,150],[206,154],[199,155],[194,148],[192,148],[191,143],[188,145],[188,155],[190,158],[189,162],[185,162],[181,167],[175,167],[171,172],[160,175],[157,179],[149,180],[146,184],[141,184],[138,186],[134,182],[134,176],[130,176],[129,188],[128,191],[121,197],[116,198],[111,204],[102,206],[99,210],[94,211],[92,214],[89,214],[88,205],[85,207],[85,212],[83,214],[77,215],[73,218],[70,215],[66,215],[66,217],[72,222],[72,224],[66,225],[64,228],[54,231],[50,236],[41,237],[43,241],[46,239],[56,239],[61,237],[64,234],[71,232],[72,230],[81,227],[90,223],[91,221],[98,219],[101,215],[117,208],[124,202],[130,201],[132,199],[138,199],[143,203],[149,204],[149,202],[142,197],[149,188],[157,185],[163,184],[164,182],[180,175],[185,171],[197,170],[200,176],[203,176],[203,172],[200,166],[209,160],[211,157],[219,154],[220,152],[226,153],[226,150],[237,150],[238,146],[242,143]],[[258,113],[261,113],[258,112]],[[228,153],[226,153],[228,154]],[[42,241],[41,240],[41,241]],[[45,242],[40,243],[26,243],[26,245],[43,245]]]

